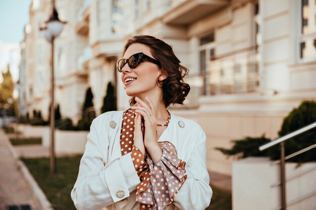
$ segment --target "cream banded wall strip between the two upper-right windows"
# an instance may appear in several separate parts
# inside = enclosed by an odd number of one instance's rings
[[[290,1],[262,2],[262,65],[264,71],[264,88],[278,91],[290,89],[290,77],[287,64],[290,62],[290,46],[295,44],[290,40]]]

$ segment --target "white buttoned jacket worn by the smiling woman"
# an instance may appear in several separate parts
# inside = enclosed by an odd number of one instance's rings
[[[131,153],[121,154],[120,132],[124,111],[110,111],[96,117],[87,135],[79,174],[71,197],[79,210],[138,210],[136,187],[140,183]],[[203,210],[212,189],[206,169],[206,136],[200,125],[171,114],[158,142],[171,142],[178,158],[186,162],[187,179],[167,210]]]

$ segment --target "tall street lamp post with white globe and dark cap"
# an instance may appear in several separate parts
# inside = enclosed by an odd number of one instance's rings
[[[48,42],[51,42],[51,78],[50,78],[50,148],[49,148],[49,157],[50,157],[50,173],[56,172],[56,163],[55,163],[55,99],[54,99],[54,90],[55,90],[55,81],[54,81],[54,41],[55,38],[60,35],[63,30],[63,26],[66,22],[62,22],[58,18],[58,12],[55,8],[55,1],[51,1],[52,12],[49,17],[49,20],[46,21],[46,26],[40,28],[44,30],[44,36]]]

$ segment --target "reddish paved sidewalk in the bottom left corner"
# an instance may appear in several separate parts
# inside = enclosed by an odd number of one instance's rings
[[[29,204],[32,210],[40,210],[30,186],[17,167],[7,141],[8,136],[0,129],[0,209],[6,209],[6,205]]]

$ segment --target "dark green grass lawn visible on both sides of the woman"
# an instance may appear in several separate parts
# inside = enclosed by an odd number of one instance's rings
[[[56,159],[56,174],[49,172],[48,158],[22,159],[56,210],[76,210],[70,191],[77,179],[81,156]],[[206,210],[231,210],[231,193],[212,187],[213,197]],[[193,210],[193,209],[192,209]]]

